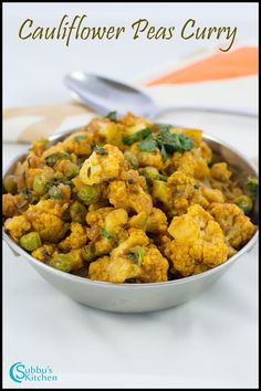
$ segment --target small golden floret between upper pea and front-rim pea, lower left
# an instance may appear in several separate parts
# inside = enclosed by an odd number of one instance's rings
[[[80,223],[71,223],[71,233],[61,243],[59,249],[63,252],[70,252],[70,250],[81,249],[86,244],[87,234],[86,229]]]

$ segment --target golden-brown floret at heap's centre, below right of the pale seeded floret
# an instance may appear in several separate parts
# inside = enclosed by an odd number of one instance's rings
[[[123,208],[136,213],[146,212],[149,214],[153,209],[153,201],[142,186],[123,180],[115,180],[108,186],[108,201],[115,208]]]

